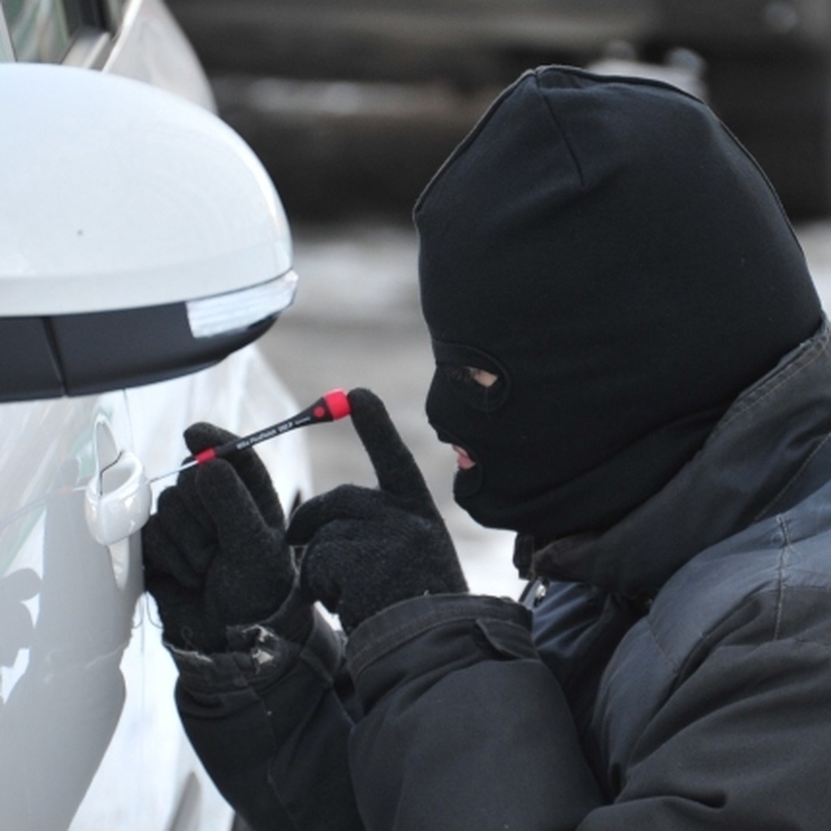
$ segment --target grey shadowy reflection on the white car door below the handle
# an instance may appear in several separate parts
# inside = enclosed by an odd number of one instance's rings
[[[65,465],[61,484],[74,481],[75,473]],[[132,569],[125,587],[132,602],[125,604],[109,553],[86,532],[81,500],[78,492],[56,491],[42,515],[42,573],[22,568],[3,578],[15,592],[3,598],[0,617],[17,621],[2,636],[4,663],[14,658],[0,711],[0,793],[6,792],[0,799],[10,828],[69,824],[124,704],[119,664],[130,640],[140,569]],[[84,535],[86,545],[66,543]],[[56,729],[65,734],[56,736]]]

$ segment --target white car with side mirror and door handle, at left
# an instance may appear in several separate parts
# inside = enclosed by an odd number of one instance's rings
[[[0,826],[229,831],[139,532],[187,425],[299,409],[255,342],[292,302],[291,236],[165,7],[100,5],[0,15]],[[289,509],[302,431],[260,452]]]

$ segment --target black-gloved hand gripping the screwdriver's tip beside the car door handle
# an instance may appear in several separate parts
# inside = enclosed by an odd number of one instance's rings
[[[194,454],[234,438],[204,423],[184,433]],[[142,543],[145,587],[175,647],[227,650],[226,627],[263,621],[293,586],[283,508],[253,450],[183,470],[160,495]]]

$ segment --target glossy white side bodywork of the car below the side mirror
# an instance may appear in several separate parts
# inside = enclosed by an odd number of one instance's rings
[[[161,645],[158,615],[147,597],[132,611],[141,591],[137,538],[120,590],[109,552],[86,529],[81,490],[57,494],[56,482],[63,471],[66,487],[86,484],[94,464],[92,426],[102,416],[120,447],[158,475],[187,455],[181,433],[195,420],[243,434],[294,406],[255,346],[172,381],[0,406],[2,581],[23,569],[42,581],[26,601],[37,643],[20,648],[12,666],[0,669],[0,770],[6,771],[0,804],[7,818],[28,816],[32,824],[20,831],[66,827],[75,800],[82,801],[71,831],[228,831],[230,809],[195,759],[175,712],[175,667]],[[302,432],[258,450],[284,504],[309,492]],[[156,492],[173,481],[159,482]],[[23,636],[7,622],[2,653]],[[68,666],[61,656],[70,656]],[[111,694],[121,677],[123,706]]]

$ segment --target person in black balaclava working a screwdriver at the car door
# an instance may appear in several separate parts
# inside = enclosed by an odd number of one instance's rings
[[[378,487],[288,529],[253,451],[185,471],[145,573],[219,787],[253,829],[824,831],[829,331],[765,175],[671,86],[543,67],[415,217],[427,416],[529,589],[468,593],[369,391]]]

